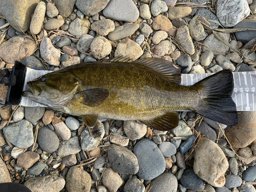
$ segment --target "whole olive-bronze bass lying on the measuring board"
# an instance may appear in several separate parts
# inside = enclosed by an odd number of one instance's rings
[[[177,111],[194,111],[236,125],[231,71],[223,70],[182,86],[180,68],[161,58],[117,57],[72,65],[29,81],[23,96],[53,110],[82,116],[91,129],[99,117],[138,120],[167,131],[179,124]]]

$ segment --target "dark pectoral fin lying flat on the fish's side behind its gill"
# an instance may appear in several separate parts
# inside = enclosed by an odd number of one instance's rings
[[[76,93],[76,96],[83,97],[83,101],[82,101],[83,104],[87,106],[95,107],[102,104],[106,99],[109,98],[110,91],[106,89],[98,89],[98,88],[89,89],[86,91],[81,91],[79,93]]]

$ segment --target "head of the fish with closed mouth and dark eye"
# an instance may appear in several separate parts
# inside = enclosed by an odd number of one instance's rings
[[[65,105],[73,97],[79,82],[71,73],[49,73],[29,81],[28,85],[31,91],[23,92],[24,97],[57,108]]]

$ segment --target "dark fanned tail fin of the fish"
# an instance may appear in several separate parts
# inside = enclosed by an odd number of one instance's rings
[[[226,125],[236,125],[238,114],[232,100],[233,74],[229,70],[220,71],[194,85],[203,100],[196,112],[202,116]]]

